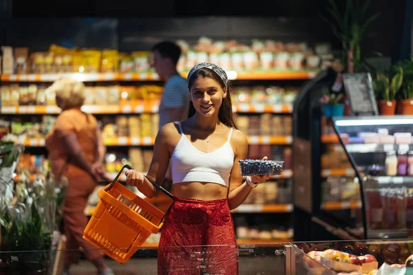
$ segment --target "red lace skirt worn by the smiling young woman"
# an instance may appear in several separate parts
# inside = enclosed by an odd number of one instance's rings
[[[175,198],[160,234],[158,274],[238,274],[228,199]]]

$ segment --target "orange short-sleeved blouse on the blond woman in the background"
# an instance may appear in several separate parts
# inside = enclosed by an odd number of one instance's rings
[[[94,115],[83,113],[80,109],[69,109],[63,111],[57,118],[54,128],[47,134],[45,145],[49,152],[49,159],[52,164],[52,173],[58,177],[59,173],[69,177],[78,177],[87,173],[85,170],[67,165],[68,154],[62,143],[62,137],[70,133],[75,133],[78,143],[87,160],[92,164],[95,160],[97,150],[96,137],[97,120]],[[62,171],[64,169],[64,171]]]

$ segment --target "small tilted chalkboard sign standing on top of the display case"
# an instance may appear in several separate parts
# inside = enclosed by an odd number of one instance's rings
[[[354,115],[379,115],[369,73],[343,74],[343,83]]]

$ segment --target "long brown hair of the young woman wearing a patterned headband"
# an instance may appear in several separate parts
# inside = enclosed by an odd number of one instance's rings
[[[226,97],[222,99],[222,104],[220,107],[220,111],[218,111],[218,118],[220,122],[224,123],[226,126],[232,127],[237,129],[237,124],[235,123],[235,118],[232,111],[232,102],[231,102],[231,83],[224,83],[220,76],[213,72],[212,69],[209,68],[201,68],[198,71],[194,72],[189,78],[188,81],[188,89],[191,92],[191,86],[193,85],[193,81],[195,79],[203,77],[203,78],[212,78],[216,82],[220,83],[222,89],[226,88]],[[192,115],[195,115],[195,107],[193,107],[192,101],[189,100],[189,111],[188,111],[188,118],[191,118]]]

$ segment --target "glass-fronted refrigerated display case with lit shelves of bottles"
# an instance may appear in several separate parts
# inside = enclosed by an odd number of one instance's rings
[[[359,181],[366,239],[413,235],[413,116],[332,118]]]

